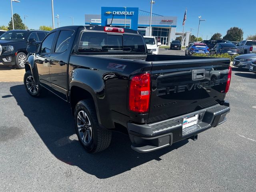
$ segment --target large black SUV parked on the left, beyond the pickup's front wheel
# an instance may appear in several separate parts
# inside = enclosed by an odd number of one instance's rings
[[[26,48],[29,44],[40,44],[48,31],[10,30],[0,36],[0,65],[25,68]]]

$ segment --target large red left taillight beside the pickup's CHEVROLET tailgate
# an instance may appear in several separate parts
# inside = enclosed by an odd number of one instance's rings
[[[133,76],[129,88],[129,109],[133,112],[147,112],[150,100],[150,74]]]

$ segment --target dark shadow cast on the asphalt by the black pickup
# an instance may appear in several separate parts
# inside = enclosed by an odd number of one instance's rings
[[[78,166],[97,178],[109,178],[151,160],[160,161],[160,156],[188,143],[188,140],[183,140],[155,152],[140,154],[130,148],[128,136],[113,132],[108,149],[98,154],[88,154],[74,135],[73,117],[66,102],[50,92],[44,98],[33,98],[28,95],[24,85],[12,86],[10,92],[56,158]]]

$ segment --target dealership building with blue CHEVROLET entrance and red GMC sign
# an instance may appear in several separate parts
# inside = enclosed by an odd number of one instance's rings
[[[152,14],[150,30],[150,13],[134,7],[102,7],[101,14],[85,14],[85,25],[98,25],[130,28],[139,30],[143,35],[155,36],[158,42],[169,45],[175,40],[177,17]],[[151,34],[150,34],[151,33]],[[184,33],[184,38],[189,38],[189,32]]]

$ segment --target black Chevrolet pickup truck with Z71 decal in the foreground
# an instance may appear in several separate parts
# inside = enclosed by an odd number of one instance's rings
[[[230,111],[229,59],[146,54],[138,31],[66,26],[27,51],[27,92],[38,97],[46,88],[68,102],[90,153],[106,149],[114,130],[138,152],[196,140]]]

